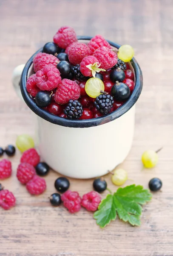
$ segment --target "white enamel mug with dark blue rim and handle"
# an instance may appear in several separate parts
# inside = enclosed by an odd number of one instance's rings
[[[78,37],[85,42],[90,39]],[[108,42],[117,49],[120,47]],[[26,91],[27,77],[33,73],[34,55],[26,65],[14,69],[13,85],[18,94],[21,89],[24,101],[37,116],[36,143],[42,159],[68,177],[87,179],[107,174],[125,160],[133,142],[135,103],[142,91],[142,72],[136,60],[133,58],[130,64],[135,88],[124,105],[107,116],[68,120],[38,107]]]

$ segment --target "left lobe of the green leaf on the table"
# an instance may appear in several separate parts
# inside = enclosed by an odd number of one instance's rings
[[[99,204],[98,211],[94,212],[96,223],[100,227],[105,227],[116,219],[116,208],[113,195],[108,194],[105,199]]]

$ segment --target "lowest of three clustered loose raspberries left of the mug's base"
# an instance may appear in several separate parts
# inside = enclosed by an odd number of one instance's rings
[[[46,189],[45,179],[34,175],[34,177],[26,184],[26,189],[31,195],[40,195]]]

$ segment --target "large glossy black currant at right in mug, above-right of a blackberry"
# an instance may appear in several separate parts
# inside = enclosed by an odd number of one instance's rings
[[[127,84],[119,83],[113,85],[111,94],[116,101],[123,101],[130,97],[130,89]]]

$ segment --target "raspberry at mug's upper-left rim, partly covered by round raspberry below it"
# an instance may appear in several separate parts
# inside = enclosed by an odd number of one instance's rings
[[[52,54],[45,52],[39,52],[33,59],[34,72],[41,70],[45,65],[52,64],[55,67],[57,66],[59,59]]]

